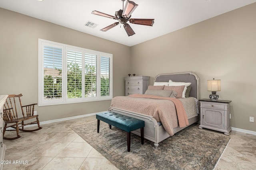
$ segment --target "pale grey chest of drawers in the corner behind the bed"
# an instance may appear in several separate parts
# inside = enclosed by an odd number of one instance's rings
[[[144,94],[148,89],[149,76],[130,76],[125,80],[125,96],[130,94]]]

